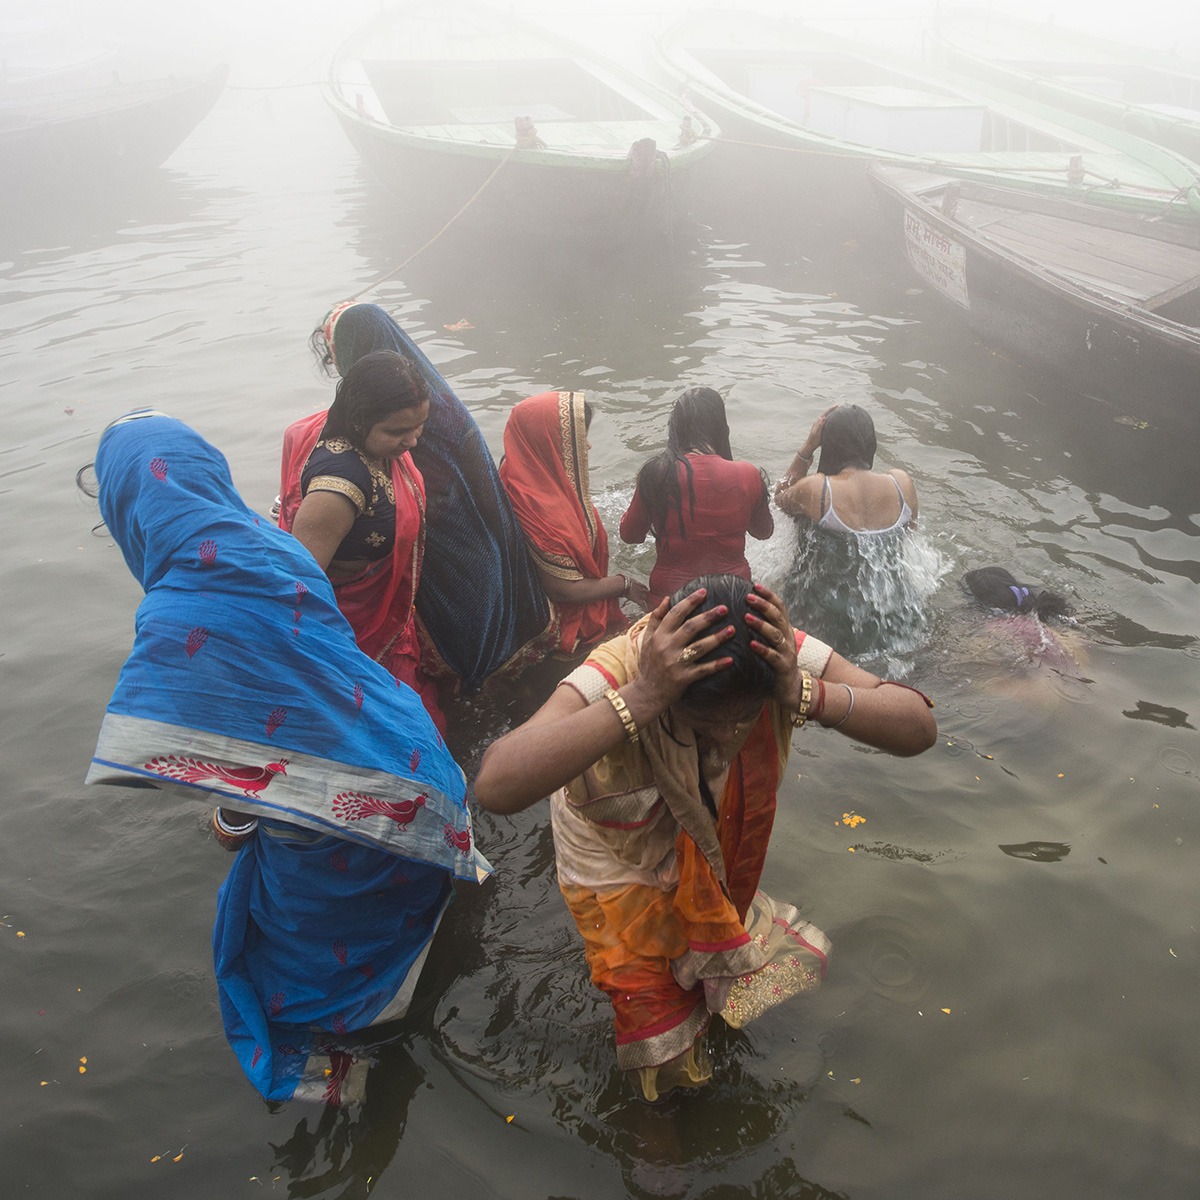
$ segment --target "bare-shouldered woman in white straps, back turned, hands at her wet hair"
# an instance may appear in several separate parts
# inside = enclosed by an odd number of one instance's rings
[[[810,475],[821,450],[820,469]],[[871,470],[875,422],[858,404],[834,404],[814,422],[775,503],[788,516],[805,516],[822,529],[859,535],[894,533],[917,520],[917,488],[906,470]]]

